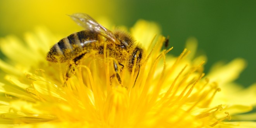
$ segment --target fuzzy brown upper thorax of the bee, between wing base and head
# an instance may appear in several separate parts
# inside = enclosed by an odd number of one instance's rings
[[[130,48],[133,45],[133,38],[125,31],[116,30],[114,31],[116,39],[121,43],[121,48]]]

